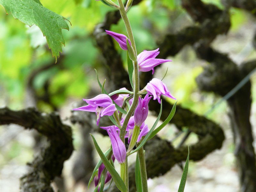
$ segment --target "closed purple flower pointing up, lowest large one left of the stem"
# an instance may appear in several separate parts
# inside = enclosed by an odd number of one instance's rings
[[[117,134],[114,126],[111,126],[110,130],[107,129],[107,132],[112,144],[113,155],[115,156],[119,164],[123,164],[126,157],[125,145]]]

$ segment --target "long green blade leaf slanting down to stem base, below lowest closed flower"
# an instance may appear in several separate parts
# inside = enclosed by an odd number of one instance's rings
[[[95,140],[95,138],[93,137],[92,134],[90,134],[92,136],[92,140],[94,143],[94,146],[103,162],[103,164],[105,165],[106,169],[108,170],[108,172],[110,173],[110,175],[112,176],[114,182],[116,183],[116,187],[122,191],[122,192],[126,192],[126,186],[124,184],[124,181],[121,179],[120,175],[116,172],[115,168],[111,165],[111,163],[108,161],[107,157],[103,154],[103,152],[101,151],[97,141]]]

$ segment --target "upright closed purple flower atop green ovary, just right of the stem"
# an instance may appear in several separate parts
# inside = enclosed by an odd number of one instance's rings
[[[148,116],[148,102],[152,98],[152,96],[148,97],[148,94],[141,99],[139,97],[139,103],[137,108],[134,111],[134,124],[138,127],[146,120]]]

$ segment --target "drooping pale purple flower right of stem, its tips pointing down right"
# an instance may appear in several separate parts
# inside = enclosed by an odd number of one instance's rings
[[[167,89],[167,86],[160,79],[153,78],[146,85],[145,89],[147,90],[149,95],[153,95],[153,100],[157,99],[159,103],[161,102],[161,95],[165,95],[166,97],[176,100],[176,98],[174,98]]]

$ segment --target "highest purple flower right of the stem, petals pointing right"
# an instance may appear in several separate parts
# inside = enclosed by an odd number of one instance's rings
[[[162,63],[172,61],[168,59],[156,59],[156,56],[160,53],[158,50],[159,48],[153,51],[144,50],[138,55],[139,71],[146,72],[152,70],[152,74],[154,74],[154,67]]]

